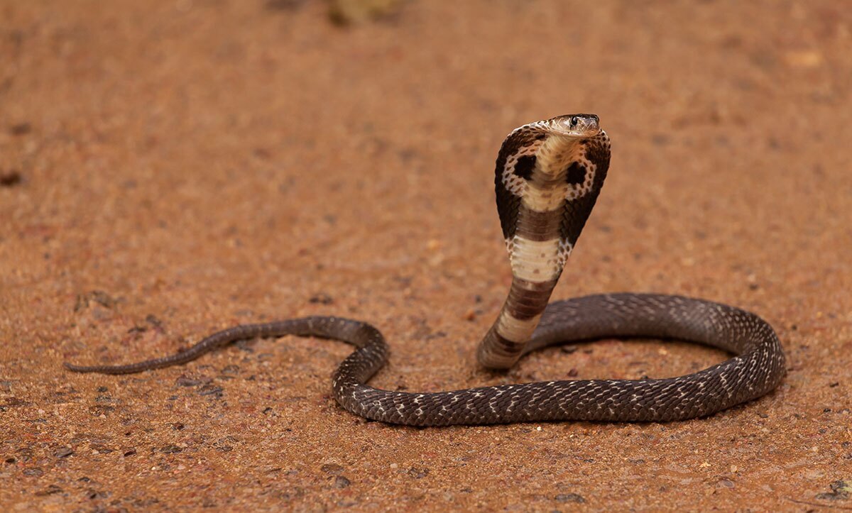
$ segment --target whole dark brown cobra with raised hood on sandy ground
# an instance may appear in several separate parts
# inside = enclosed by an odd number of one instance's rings
[[[389,357],[381,331],[360,320],[311,316],[233,326],[176,354],[73,372],[126,374],[185,364],[235,341],[320,337],[352,354],[331,378],[348,412],[389,424],[446,426],[544,421],[669,422],[699,418],[757,399],[782,381],[779,338],[746,310],[704,299],[607,293],[550,302],[607,176],[611,144],[595,114],[567,114],[512,130],[498,152],[495,192],[512,282],[497,320],[476,351],[479,364],[506,370],[521,356],[602,338],[676,339],[732,356],[674,378],[568,379],[440,392],[377,389],[367,383]]]

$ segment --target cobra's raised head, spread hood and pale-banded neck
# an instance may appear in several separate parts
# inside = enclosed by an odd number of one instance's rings
[[[608,166],[609,140],[591,114],[527,124],[504,141],[495,190],[513,280],[498,319],[480,344],[477,357],[483,366],[509,368],[520,358]]]

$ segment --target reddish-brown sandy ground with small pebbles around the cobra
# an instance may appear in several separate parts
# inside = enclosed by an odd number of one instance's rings
[[[0,2],[0,509],[852,508],[850,9],[419,0],[348,28],[326,9]],[[412,429],[331,399],[342,343],[61,368],[306,314],[381,328],[387,389],[724,359],[607,340],[476,366],[509,284],[493,160],[566,112],[599,114],[614,153],[555,297],[751,309],[786,350],[774,393],[675,424]]]

